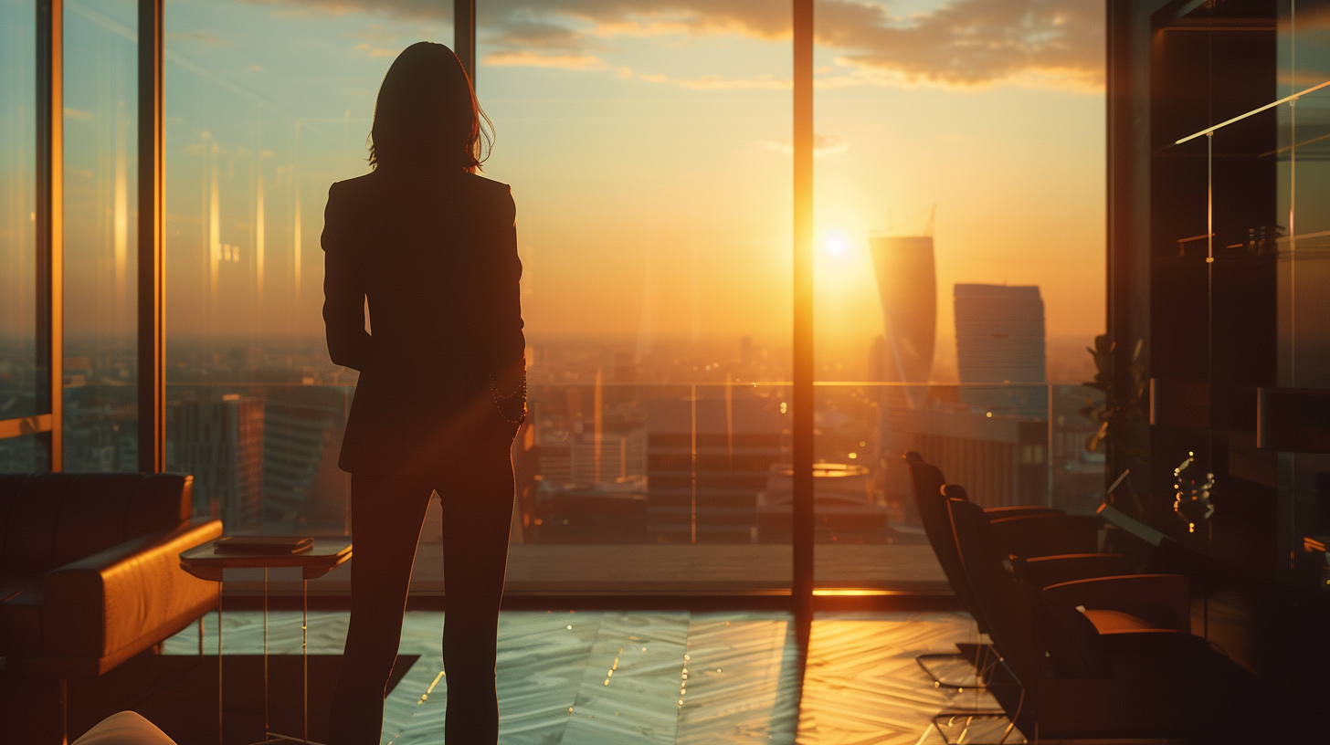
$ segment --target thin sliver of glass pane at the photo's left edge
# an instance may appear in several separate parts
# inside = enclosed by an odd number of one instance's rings
[[[0,419],[49,411],[37,400],[35,43],[33,3],[0,4]]]

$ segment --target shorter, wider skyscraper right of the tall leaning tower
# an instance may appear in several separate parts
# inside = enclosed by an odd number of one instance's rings
[[[1043,418],[1044,299],[1037,286],[956,285],[956,367],[971,408]],[[1021,383],[1028,383],[1023,386]]]

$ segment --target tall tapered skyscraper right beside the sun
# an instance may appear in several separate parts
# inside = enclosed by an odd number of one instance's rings
[[[882,379],[927,383],[938,330],[938,274],[932,235],[868,238],[886,327]]]

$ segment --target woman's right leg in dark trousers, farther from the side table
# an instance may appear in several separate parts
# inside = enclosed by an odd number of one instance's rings
[[[443,499],[443,667],[448,710],[444,742],[493,745],[499,740],[495,656],[499,601],[512,522],[512,427],[488,423],[440,478]]]

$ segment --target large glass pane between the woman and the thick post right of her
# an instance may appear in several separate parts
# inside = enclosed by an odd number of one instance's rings
[[[789,587],[789,7],[528,8],[477,64],[531,346],[509,587]]]

